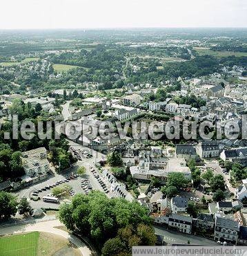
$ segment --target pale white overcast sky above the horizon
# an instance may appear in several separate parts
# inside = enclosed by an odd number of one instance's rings
[[[247,0],[8,0],[0,29],[247,27]]]

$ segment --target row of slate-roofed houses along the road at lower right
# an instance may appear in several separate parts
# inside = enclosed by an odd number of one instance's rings
[[[167,199],[163,199],[167,201]],[[158,200],[157,203],[159,203]],[[239,201],[222,201],[215,204],[217,212],[200,213],[197,218],[192,218],[186,214],[188,199],[176,196],[170,201],[170,205],[165,203],[164,207],[159,209],[159,213],[152,213],[151,217],[155,224],[168,226],[179,232],[191,234],[196,230],[212,235],[215,241],[226,242],[228,244],[247,244],[247,227],[241,220],[241,208],[243,205]],[[209,205],[208,208],[212,208]],[[225,211],[235,211],[235,214],[229,216],[224,214]]]

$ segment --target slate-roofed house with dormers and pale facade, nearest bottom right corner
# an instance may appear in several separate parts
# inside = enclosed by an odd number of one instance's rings
[[[230,244],[237,244],[239,237],[239,222],[226,217],[215,217],[215,235],[216,241],[226,241]]]

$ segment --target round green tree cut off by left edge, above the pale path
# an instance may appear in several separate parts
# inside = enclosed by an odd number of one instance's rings
[[[17,199],[8,192],[0,192],[0,219],[8,219],[17,213]]]

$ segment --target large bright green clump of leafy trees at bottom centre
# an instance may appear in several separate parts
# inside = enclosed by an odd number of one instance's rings
[[[60,208],[59,220],[68,229],[78,228],[81,234],[89,235],[99,246],[116,237],[118,230],[128,225],[131,225],[133,230],[137,230],[140,223],[151,225],[147,208],[136,201],[109,199],[99,191],[92,191],[88,195],[75,195],[72,203]],[[143,230],[140,232],[144,233]]]

